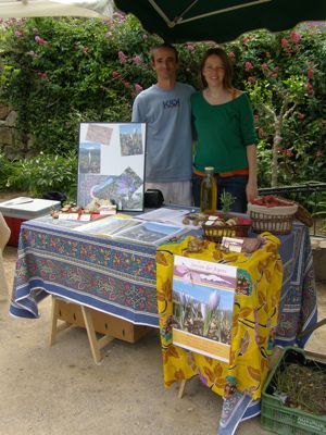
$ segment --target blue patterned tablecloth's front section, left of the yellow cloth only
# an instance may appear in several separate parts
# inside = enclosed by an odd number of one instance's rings
[[[11,314],[38,318],[38,301],[51,294],[158,327],[155,247],[70,226],[49,217],[23,223]]]

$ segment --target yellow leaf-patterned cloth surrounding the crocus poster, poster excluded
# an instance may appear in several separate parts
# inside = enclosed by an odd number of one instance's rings
[[[283,282],[283,264],[278,254],[280,241],[269,233],[261,236],[262,246],[250,254],[225,253],[216,250],[216,245],[210,241],[205,243],[202,252],[189,253],[187,247],[191,236],[180,243],[158,248],[156,288],[165,386],[199,375],[213,391],[223,396],[226,377],[233,376],[239,391],[251,396],[253,400],[261,397],[277,326]],[[174,254],[218,261],[238,268],[229,363],[173,345]]]

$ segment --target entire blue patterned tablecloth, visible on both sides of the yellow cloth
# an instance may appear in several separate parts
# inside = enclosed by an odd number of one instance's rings
[[[51,217],[23,223],[10,312],[37,318],[38,301],[53,294],[158,327],[155,248],[77,233],[74,225]],[[276,344],[285,346],[298,344],[317,309],[306,226],[296,222],[279,239],[284,278]]]

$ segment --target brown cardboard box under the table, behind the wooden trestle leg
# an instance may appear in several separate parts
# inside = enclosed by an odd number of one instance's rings
[[[77,303],[59,299],[58,320],[65,321],[74,326],[85,327],[82,308]],[[115,318],[101,311],[91,310],[93,327],[97,333],[110,335],[128,343],[136,343],[149,333],[151,327],[134,325],[126,320]]]

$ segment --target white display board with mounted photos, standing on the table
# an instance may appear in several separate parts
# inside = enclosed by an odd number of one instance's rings
[[[77,203],[110,199],[143,210],[146,124],[79,123]]]

